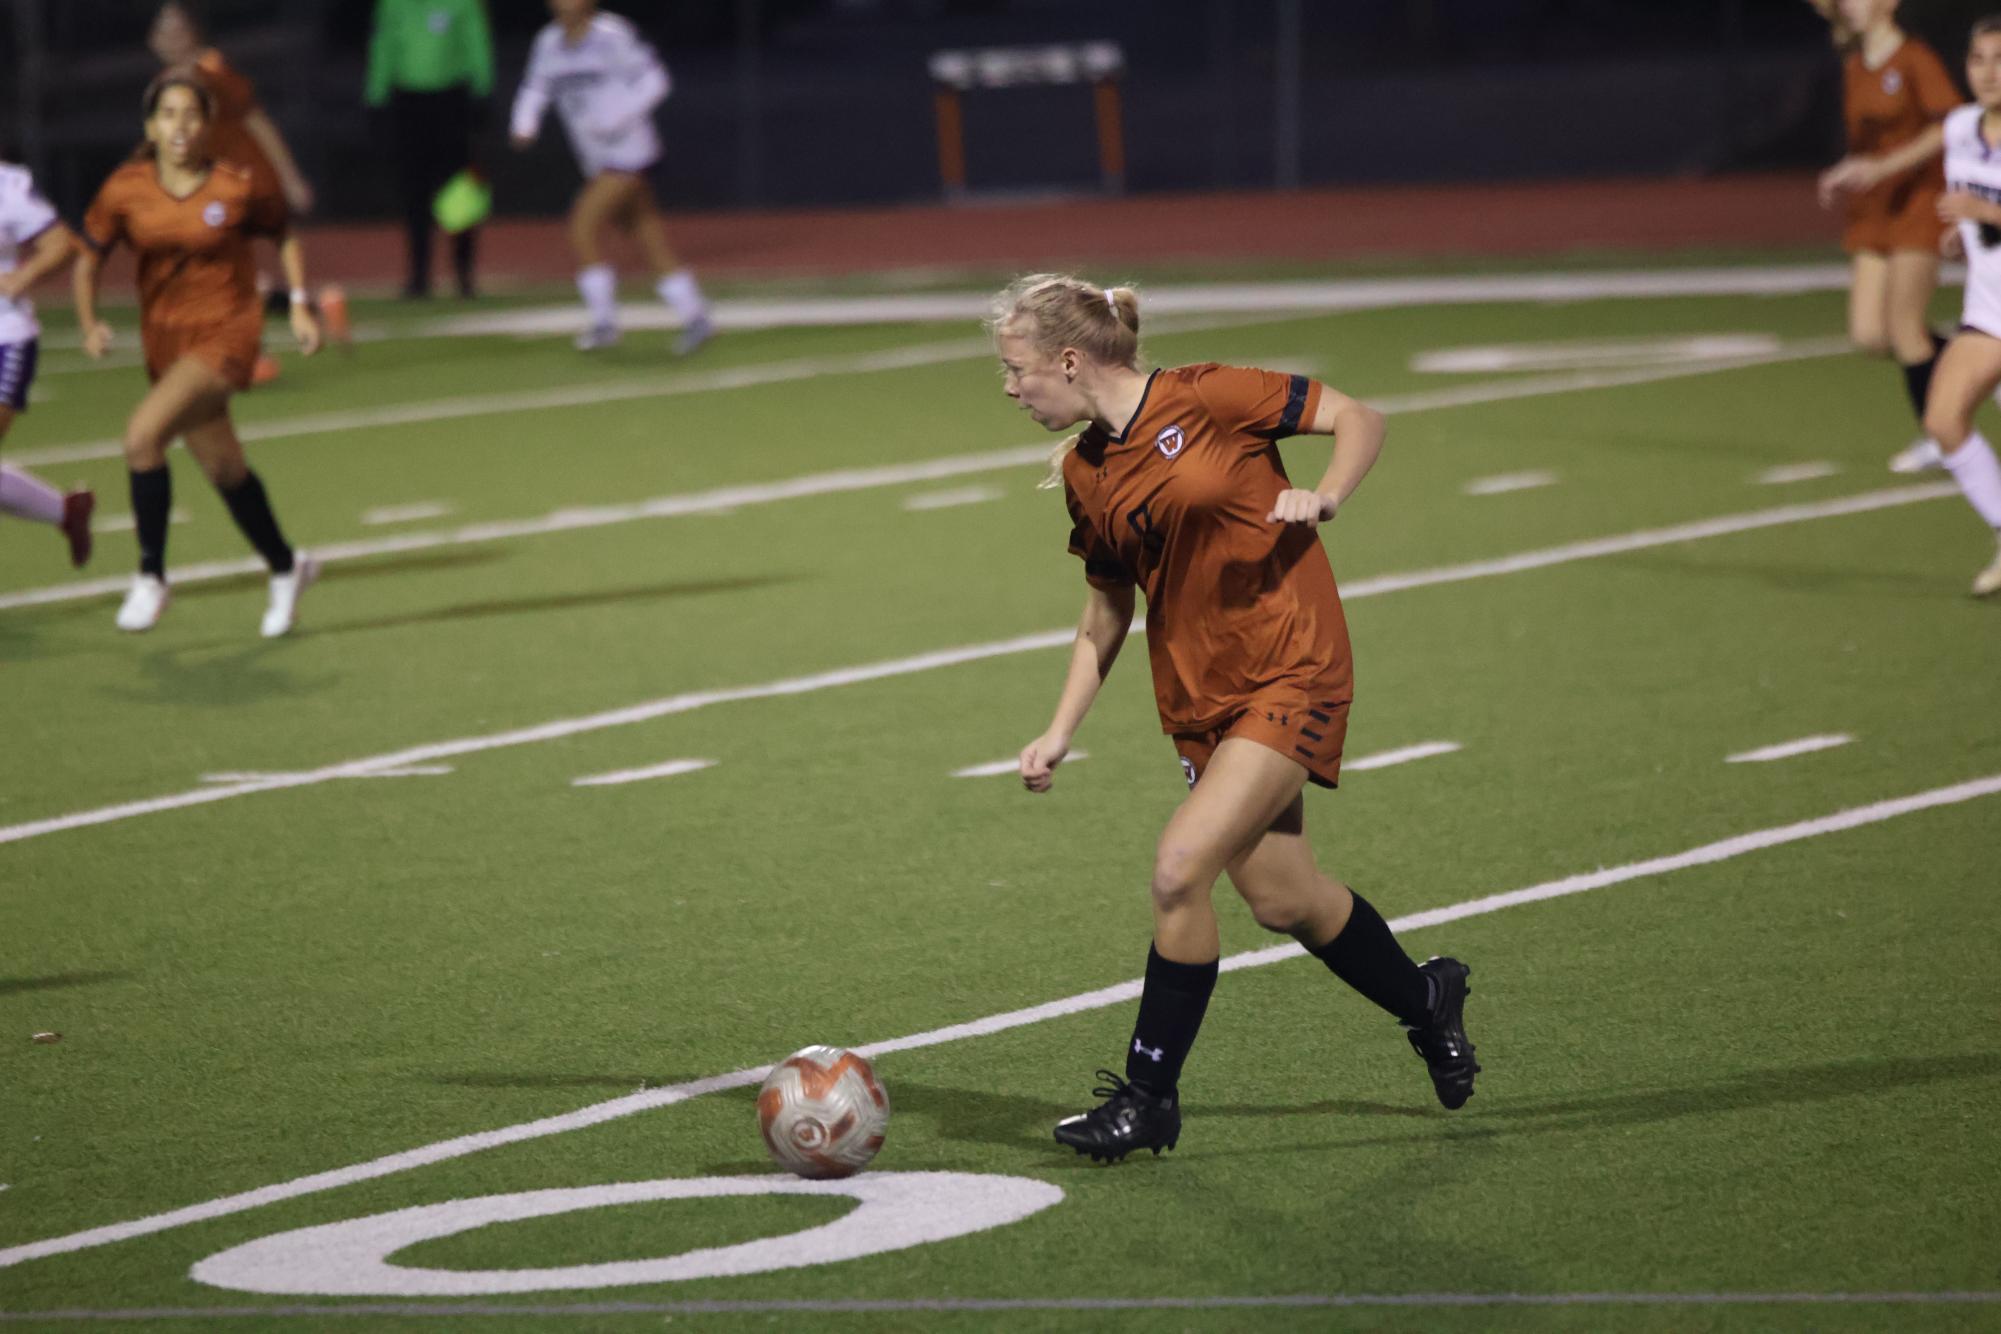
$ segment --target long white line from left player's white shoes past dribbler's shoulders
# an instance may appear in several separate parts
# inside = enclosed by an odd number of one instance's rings
[[[1841,346],[1845,348],[1847,344]],[[1439,390],[1433,394],[1407,394],[1403,398],[1383,398],[1377,400],[1377,406],[1381,406],[1381,410],[1385,412],[1405,412],[1405,414],[1429,412],[1437,408],[1465,408],[1481,402],[1535,398],[1541,394],[1571,394],[1577,390],[1591,390],[1591,388],[1621,388],[1655,380],[1671,380],[1679,376],[1713,374],[1717,370],[1743,370],[1749,366],[1767,364],[1771,360],[1797,360],[1799,356],[1825,356],[1825,352],[1805,352],[1795,348],[1779,354],[1777,358],[1765,358],[1765,360],[1733,360],[1721,364],[1705,362],[1697,366],[1649,368],[1641,372],[1565,374],[1565,376],[1547,376],[1539,380],[1503,380],[1499,384],[1485,384],[1485,386],[1467,384],[1451,390]],[[16,460],[16,462],[26,462],[26,460]],[[442,546],[464,546],[472,542],[498,542],[508,538],[542,536],[550,532],[574,532],[580,528],[604,528],[612,524],[630,524],[646,518],[714,514],[736,506],[772,504],[782,500],[798,500],[802,496],[870,490],[876,486],[902,486],[906,482],[926,482],[926,480],[966,476],[976,472],[994,472],[994,470],[1007,470],[1029,464],[1047,464],[1047,462],[1049,462],[1049,446],[1029,444],[1013,450],[994,450],[988,454],[960,454],[956,458],[936,458],[918,464],[898,464],[884,468],[848,468],[840,472],[806,474],[784,482],[766,482],[754,486],[724,486],[718,490],[692,492],[680,496],[658,496],[654,500],[644,500],[638,504],[566,508],[538,518],[494,520],[446,532],[406,532],[406,534],[396,534],[392,538],[362,538],[352,542],[316,544],[312,548],[312,554],[318,556],[322,564],[330,564],[336,560],[356,560],[364,556],[388,556],[398,552],[430,550]],[[236,560],[210,560],[192,566],[176,566],[172,570],[172,580],[176,584],[198,584],[206,580],[234,578],[240,574],[260,574],[262,570],[264,564],[260,560],[256,560],[254,556],[242,556]],[[124,594],[128,584],[130,584],[128,578],[100,578],[100,580],[76,580],[70,584],[50,584],[44,588],[26,588],[18,592],[0,594],[0,612],[20,606],[44,606],[50,602],[74,602],[78,598],[104,598],[112,594]]]

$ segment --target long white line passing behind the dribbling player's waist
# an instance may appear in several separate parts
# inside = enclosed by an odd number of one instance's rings
[[[1781,524],[1799,524],[1807,520],[1833,518],[1841,514],[1863,514],[1869,510],[1881,510],[1889,506],[1913,504],[1919,500],[1933,500],[1939,496],[1957,496],[1957,494],[1959,488],[1953,486],[1951,482],[1935,482],[1931,486],[1905,486],[1883,492],[1867,492],[1863,496],[1845,496],[1843,500],[1827,500],[1821,504],[1793,504],[1793,506],[1781,506],[1777,510],[1757,510],[1751,514],[1727,514],[1721,518],[1697,520],[1693,524],[1677,524],[1673,528],[1647,528],[1641,532],[1627,532],[1611,538],[1591,538],[1585,542],[1569,542],[1565,546],[1549,546],[1533,552],[1517,552],[1515,556],[1501,556],[1497,560],[1473,560],[1459,566],[1411,570],[1407,574],[1377,574],[1373,578],[1361,578],[1351,582],[1343,590],[1343,598],[1355,602],[1357,598],[1375,598],[1381,594],[1405,592],[1411,588],[1435,588],[1443,584],[1463,584],[1467,580],[1501,578],[1509,574],[1523,574],[1527,570],[1543,570],[1549,566],[1571,564],[1577,560],[1599,560],[1605,556],[1621,556],[1625,552],[1647,550],[1653,546],[1673,546],[1679,542],[1719,538],[1737,532],[1753,532],[1757,528],[1775,528]],[[870,662],[862,666],[836,668],[812,676],[794,676],[774,682],[762,682],[756,686],[726,686],[718,690],[696,690],[688,694],[674,694],[662,700],[648,700],[644,704],[616,708],[602,714],[588,714],[582,718],[560,718],[556,722],[544,722],[540,726],[518,728],[508,732],[494,732],[488,736],[466,736],[448,742],[432,742],[428,746],[392,750],[380,756],[364,756],[360,760],[346,760],[340,764],[330,764],[300,774],[274,774],[270,778],[258,778],[242,784],[196,788],[192,792],[178,792],[172,796],[158,796],[140,802],[124,802],[118,806],[102,806],[98,810],[82,810],[68,816],[54,816],[48,820],[30,820],[26,824],[12,824],[0,828],[0,844],[22,842],[26,838],[38,838],[42,834],[58,834],[64,830],[90,828],[96,824],[112,824],[116,820],[150,816],[164,810],[206,806],[210,802],[222,802],[236,796],[250,796],[254,792],[276,792],[280,788],[304,788],[320,782],[334,782],[338,778],[352,778],[354,774],[364,774],[378,768],[402,768],[408,764],[446,760],[460,754],[498,750],[504,746],[522,746],[530,742],[556,740],[562,736],[578,736],[582,732],[596,732],[602,728],[630,726],[636,722],[650,722],[654,718],[664,718],[668,714],[682,714],[696,708],[706,708],[710,704],[778,698],[788,694],[808,694],[812,690],[826,690],[830,686],[850,686],[866,680],[908,676],[912,672],[930,672],[936,668],[956,666],[962,662],[980,662],[984,658],[1000,658],[1009,654],[1035,652],[1043,648],[1063,648],[1073,642],[1073,636],[1075,630],[1071,628],[1045,630],[1041,634],[1027,634],[1021,638],[1000,640],[992,644],[966,644],[960,648],[942,648],[928,654],[916,654],[912,658],[894,658],[888,662]]]

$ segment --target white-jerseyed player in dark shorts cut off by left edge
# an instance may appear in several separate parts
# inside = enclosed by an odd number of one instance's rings
[[[76,236],[34,188],[28,168],[0,162],[0,440],[28,410],[42,346],[42,324],[34,318],[28,290],[74,254]],[[96,504],[90,490],[64,494],[32,472],[0,464],[0,514],[60,532],[72,566],[90,560],[90,512]]]

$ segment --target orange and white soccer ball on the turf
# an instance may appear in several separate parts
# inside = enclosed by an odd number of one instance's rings
[[[866,1058],[838,1046],[792,1052],[756,1094],[772,1162],[798,1176],[854,1176],[882,1148],[888,1092]]]

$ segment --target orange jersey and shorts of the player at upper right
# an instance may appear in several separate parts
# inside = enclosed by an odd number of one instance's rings
[[[1853,52],[1841,68],[1841,84],[1849,152],[1861,156],[1903,148],[1961,102],[1937,52],[1917,38],[1905,38],[1875,70]],[[1935,250],[1945,230],[1935,212],[1941,190],[1943,160],[1931,158],[1853,196],[1845,248]]]

